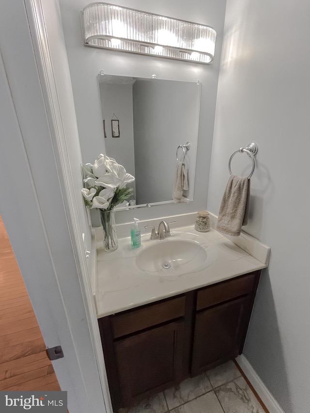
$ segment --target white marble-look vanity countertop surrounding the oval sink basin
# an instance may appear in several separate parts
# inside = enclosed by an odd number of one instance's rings
[[[171,230],[171,237],[166,240],[152,241],[149,238],[149,233],[141,235],[141,247],[137,249],[131,248],[130,237],[119,239],[119,248],[113,252],[105,252],[99,245],[94,291],[98,318],[267,267],[267,259],[261,262],[254,258],[215,229],[198,232],[191,225]],[[136,254],[141,248],[178,238],[199,240],[207,252],[204,269],[192,274],[161,277],[146,274],[137,267]],[[259,248],[266,249],[268,257],[269,247],[252,240],[253,245],[258,243]]]

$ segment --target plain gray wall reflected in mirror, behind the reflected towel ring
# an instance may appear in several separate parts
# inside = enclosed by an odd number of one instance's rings
[[[193,199],[200,88],[196,83],[154,79],[133,85],[138,203],[172,199],[176,148],[187,140],[189,190],[184,195]],[[178,159],[183,159],[182,150]]]

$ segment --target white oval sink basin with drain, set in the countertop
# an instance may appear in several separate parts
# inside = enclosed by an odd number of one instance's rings
[[[162,240],[141,249],[136,263],[141,271],[158,276],[185,275],[202,269],[205,249],[193,240]]]

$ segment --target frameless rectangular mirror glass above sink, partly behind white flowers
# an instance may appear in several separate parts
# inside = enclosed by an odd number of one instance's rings
[[[187,141],[188,190],[181,201],[193,200],[201,83],[101,74],[98,79],[106,153],[136,178],[130,205],[175,202],[176,152]],[[182,148],[178,159],[184,161]]]

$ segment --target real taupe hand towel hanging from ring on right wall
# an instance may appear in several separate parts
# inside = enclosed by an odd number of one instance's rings
[[[239,236],[248,223],[250,180],[247,176],[231,175],[226,185],[217,218],[217,231]]]

